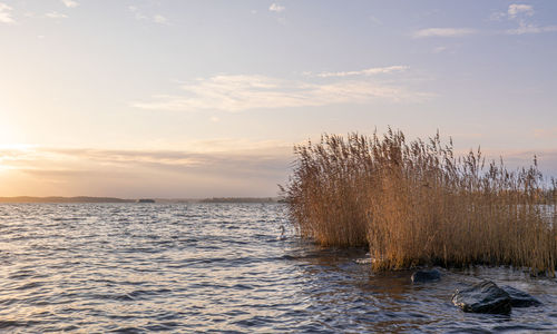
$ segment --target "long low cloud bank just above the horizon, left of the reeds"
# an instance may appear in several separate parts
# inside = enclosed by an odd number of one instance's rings
[[[0,148],[0,181],[4,194],[31,196],[275,196],[291,160],[290,145],[206,153]]]

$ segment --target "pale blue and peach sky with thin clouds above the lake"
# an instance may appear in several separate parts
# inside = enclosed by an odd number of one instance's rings
[[[0,196],[276,196],[321,134],[557,176],[557,1],[0,0]]]

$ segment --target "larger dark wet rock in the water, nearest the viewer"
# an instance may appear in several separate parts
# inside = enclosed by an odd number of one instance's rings
[[[510,296],[491,281],[483,281],[452,295],[452,303],[463,312],[509,314]]]

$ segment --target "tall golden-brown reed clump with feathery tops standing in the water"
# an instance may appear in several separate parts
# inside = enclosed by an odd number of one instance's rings
[[[556,181],[537,169],[455,157],[437,135],[407,141],[324,135],[295,147],[283,188],[299,233],[323,246],[369,246],[377,269],[514,265],[554,274]],[[550,212],[549,212],[550,210]]]

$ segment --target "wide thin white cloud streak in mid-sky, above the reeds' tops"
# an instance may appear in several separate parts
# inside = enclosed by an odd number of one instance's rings
[[[364,71],[359,72],[363,73]],[[183,95],[158,95],[154,96],[150,101],[133,102],[133,106],[153,110],[241,111],[372,101],[420,102],[431,97],[429,94],[412,91],[403,86],[382,84],[370,79],[344,79],[323,84],[283,80],[265,76],[218,75],[197,79],[180,88]]]

